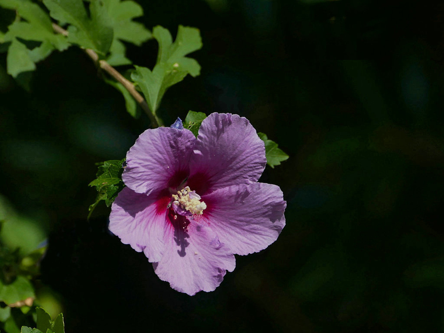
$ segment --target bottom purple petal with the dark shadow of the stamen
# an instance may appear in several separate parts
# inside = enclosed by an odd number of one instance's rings
[[[186,220],[178,215],[180,219]],[[165,232],[164,256],[153,263],[154,270],[171,288],[190,296],[214,291],[226,270],[233,271],[234,255],[207,225],[186,221],[186,224],[170,224]]]

